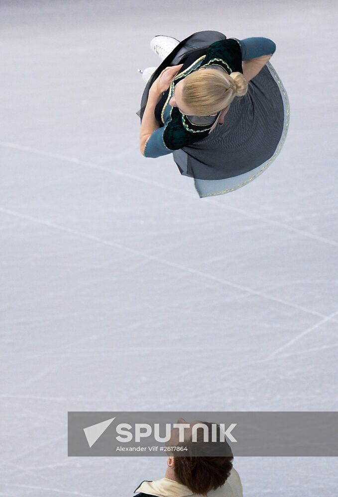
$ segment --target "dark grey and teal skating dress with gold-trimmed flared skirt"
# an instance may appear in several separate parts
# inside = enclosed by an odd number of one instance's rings
[[[274,50],[267,38],[226,39],[218,31],[200,31],[181,41],[156,69],[142,95],[137,112],[141,120],[152,83],[165,67],[183,63],[156,105],[160,128],[150,136],[144,156],[173,154],[181,174],[194,178],[200,197],[228,193],[259,176],[279,154],[289,126],[288,96],[271,63],[248,83],[246,95],[234,98],[225,123],[211,133],[219,113],[187,116],[169,100],[175,84],[201,67],[242,73],[243,60]]]

